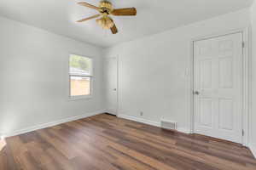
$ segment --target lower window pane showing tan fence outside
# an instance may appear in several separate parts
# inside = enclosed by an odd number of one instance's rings
[[[70,95],[90,95],[90,77],[70,77]]]

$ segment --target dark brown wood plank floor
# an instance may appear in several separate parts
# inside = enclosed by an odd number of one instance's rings
[[[1,170],[256,170],[240,144],[106,114],[7,139]]]

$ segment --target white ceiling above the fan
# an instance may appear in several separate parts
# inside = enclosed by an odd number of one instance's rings
[[[81,0],[97,5],[100,0]],[[95,20],[76,20],[97,14],[77,5],[79,0],[1,0],[0,14],[57,34],[109,47],[119,42],[166,31],[177,26],[250,6],[253,0],[110,0],[114,7],[136,7],[136,17],[113,17],[117,35],[102,30]]]

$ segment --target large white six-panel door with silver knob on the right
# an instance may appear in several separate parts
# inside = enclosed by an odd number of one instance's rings
[[[242,143],[242,33],[194,42],[195,133]]]

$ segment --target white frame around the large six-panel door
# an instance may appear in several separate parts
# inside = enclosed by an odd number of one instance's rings
[[[243,130],[241,144],[248,146],[249,135],[251,134],[251,55],[249,49],[251,48],[251,42],[249,39],[249,28],[242,28],[233,31],[220,32],[217,34],[196,37],[190,41],[190,133],[195,133],[195,98],[194,98],[194,42],[207,40],[214,37],[224,37],[230,34],[242,34],[242,40],[244,42],[244,48],[242,49],[242,120],[241,127]]]

